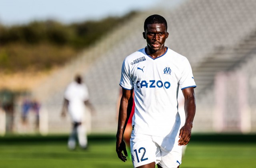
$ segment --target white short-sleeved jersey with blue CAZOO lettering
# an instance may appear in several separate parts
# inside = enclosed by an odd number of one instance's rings
[[[134,88],[134,133],[175,138],[181,121],[178,114],[178,90],[196,87],[186,57],[166,49],[152,59],[146,48],[126,57],[122,64],[120,86]],[[182,125],[183,126],[183,125]]]

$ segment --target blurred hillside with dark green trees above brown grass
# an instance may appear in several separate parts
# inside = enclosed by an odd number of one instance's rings
[[[62,65],[136,14],[70,25],[54,20],[11,27],[0,25],[0,70],[45,70]]]

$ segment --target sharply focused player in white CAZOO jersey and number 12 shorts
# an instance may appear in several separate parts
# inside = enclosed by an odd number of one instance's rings
[[[196,111],[196,84],[188,59],[164,46],[168,38],[166,20],[159,15],[144,22],[147,46],[129,55],[122,65],[116,152],[126,161],[123,133],[132,109],[135,112],[130,139],[134,167],[179,168],[182,146],[187,145]],[[178,113],[179,87],[184,95],[185,121]],[[122,154],[124,151],[124,154]]]

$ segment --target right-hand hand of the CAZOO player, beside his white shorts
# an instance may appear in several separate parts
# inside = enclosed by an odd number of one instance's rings
[[[178,141],[178,145],[182,146],[182,145],[187,145],[190,141],[191,138],[191,129],[192,126],[185,124],[181,129],[180,129],[180,135],[179,135],[179,141]]]

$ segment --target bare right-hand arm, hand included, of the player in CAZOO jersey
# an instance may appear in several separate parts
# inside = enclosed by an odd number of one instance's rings
[[[191,130],[193,126],[194,116],[196,114],[196,99],[194,88],[186,88],[182,90],[184,95],[184,109],[186,114],[185,125],[180,129],[178,145],[187,145],[191,138]]]

